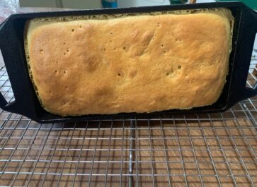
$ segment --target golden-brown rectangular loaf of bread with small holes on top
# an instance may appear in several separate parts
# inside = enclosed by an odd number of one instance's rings
[[[61,116],[210,105],[226,82],[233,23],[224,8],[30,20],[30,78]]]

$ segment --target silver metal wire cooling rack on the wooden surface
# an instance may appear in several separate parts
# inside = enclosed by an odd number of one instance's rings
[[[247,86],[256,83],[257,57]],[[13,92],[5,68],[0,90]],[[0,113],[0,186],[257,186],[257,100],[219,114],[40,124]]]

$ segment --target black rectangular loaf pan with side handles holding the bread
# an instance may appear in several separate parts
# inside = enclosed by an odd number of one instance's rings
[[[229,59],[229,73],[227,83],[222,95],[215,104],[207,107],[196,107],[189,110],[169,110],[149,114],[113,114],[113,115],[86,115],[86,116],[57,116],[45,111],[40,105],[33,84],[28,75],[25,59],[23,32],[25,22],[31,18],[57,17],[57,16],[81,16],[93,14],[115,13],[143,13],[152,11],[174,11],[198,8],[229,8],[235,18],[232,53]],[[196,112],[219,112],[232,107],[242,99],[257,95],[257,90],[246,88],[251,61],[253,42],[257,32],[257,13],[240,2],[186,4],[178,6],[147,6],[137,8],[114,8],[81,11],[61,11],[24,13],[11,15],[0,25],[0,49],[4,57],[6,70],[11,81],[15,101],[8,103],[3,95],[0,95],[0,107],[6,111],[22,114],[40,123],[52,123],[63,121],[83,121],[88,119],[110,119],[144,116],[163,116],[166,114],[185,114]],[[213,33],[215,35],[215,33]]]

